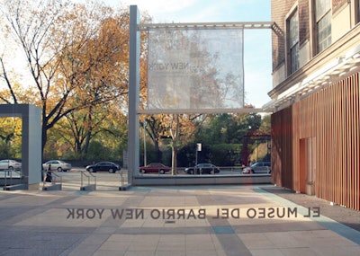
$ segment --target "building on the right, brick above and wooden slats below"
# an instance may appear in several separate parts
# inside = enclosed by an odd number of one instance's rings
[[[272,179],[360,210],[359,0],[273,0]]]

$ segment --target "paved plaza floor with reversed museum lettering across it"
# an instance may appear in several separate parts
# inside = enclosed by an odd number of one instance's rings
[[[328,205],[271,185],[0,191],[0,255],[360,255]]]

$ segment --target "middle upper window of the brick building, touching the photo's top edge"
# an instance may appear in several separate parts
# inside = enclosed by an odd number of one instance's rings
[[[320,52],[331,44],[331,1],[316,0],[315,8],[318,52]]]

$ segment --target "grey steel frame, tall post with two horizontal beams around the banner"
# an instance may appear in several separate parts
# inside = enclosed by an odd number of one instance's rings
[[[129,132],[128,132],[128,181],[133,183],[134,173],[139,174],[139,114],[168,113],[254,113],[263,109],[202,109],[202,110],[139,110],[139,31],[172,29],[273,29],[274,22],[217,22],[217,23],[139,23],[137,5],[130,5],[130,56],[129,56]]]

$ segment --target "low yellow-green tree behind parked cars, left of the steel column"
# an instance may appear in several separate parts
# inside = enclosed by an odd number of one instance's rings
[[[121,110],[112,104],[106,107],[96,106],[93,109],[68,114],[49,130],[49,142],[44,155],[53,158],[53,152],[49,150],[49,146],[53,146],[60,156],[90,159],[94,156],[93,153],[89,153],[91,146],[98,144],[101,145],[99,151],[104,148],[111,151],[111,154],[107,155],[108,159],[118,160],[126,146],[126,138],[126,117]],[[64,149],[67,151],[64,152]],[[98,156],[100,157],[100,152]]]

